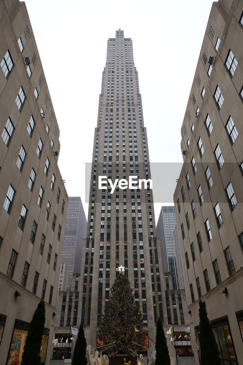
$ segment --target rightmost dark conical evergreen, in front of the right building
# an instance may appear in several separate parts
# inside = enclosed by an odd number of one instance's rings
[[[208,319],[205,304],[199,302],[201,365],[220,365],[219,349]]]

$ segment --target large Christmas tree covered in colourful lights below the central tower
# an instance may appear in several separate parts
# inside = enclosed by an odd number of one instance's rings
[[[105,304],[103,320],[98,335],[104,345],[105,353],[127,354],[146,350],[139,343],[146,337],[143,330],[143,318],[139,307],[134,303],[134,294],[125,275],[120,273],[111,288],[111,295]],[[140,331],[135,326],[140,325]],[[138,328],[137,327],[137,328]],[[115,343],[114,343],[115,342]],[[109,349],[108,349],[109,347]]]

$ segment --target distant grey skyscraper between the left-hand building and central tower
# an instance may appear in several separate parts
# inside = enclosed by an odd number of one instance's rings
[[[80,196],[70,196],[67,205],[62,247],[62,263],[66,264],[68,271],[67,286],[65,289],[67,291],[71,289],[73,273],[80,272],[83,239],[86,236],[86,229],[87,220],[81,198]]]

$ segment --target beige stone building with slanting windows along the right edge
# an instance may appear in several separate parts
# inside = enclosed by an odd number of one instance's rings
[[[201,298],[222,364],[230,365],[243,359],[242,11],[242,0],[212,5],[181,128],[184,165],[174,193],[194,353]]]

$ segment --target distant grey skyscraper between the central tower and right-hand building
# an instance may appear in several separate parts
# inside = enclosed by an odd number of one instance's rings
[[[181,286],[183,276],[179,278],[182,273],[179,268],[181,267],[180,250],[176,252],[178,247],[175,245],[173,236],[176,229],[175,207],[161,207],[156,232],[161,242],[163,272],[171,272],[173,289],[183,289],[184,287]]]

